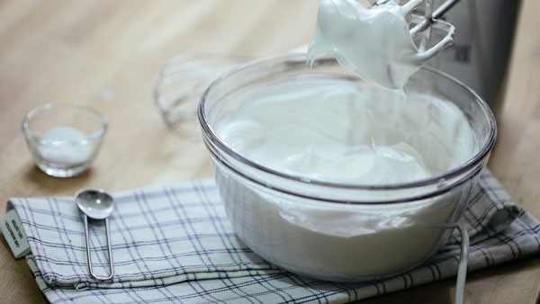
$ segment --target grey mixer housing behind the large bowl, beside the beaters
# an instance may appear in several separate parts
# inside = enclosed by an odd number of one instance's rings
[[[434,6],[444,1],[434,0]],[[469,85],[496,116],[520,4],[520,0],[464,0],[455,4],[442,18],[455,26],[454,45],[428,64]]]

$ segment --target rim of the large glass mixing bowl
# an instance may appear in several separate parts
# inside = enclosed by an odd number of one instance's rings
[[[246,156],[239,154],[233,148],[230,148],[229,145],[224,140],[220,139],[217,133],[211,128],[211,125],[205,113],[206,99],[208,97],[208,94],[210,94],[210,92],[214,89],[216,85],[220,85],[220,82],[222,82],[224,79],[250,67],[264,66],[265,64],[270,63],[270,62],[283,63],[287,59],[294,60],[295,58],[296,59],[303,58],[305,60],[305,57],[306,57],[305,53],[296,53],[296,54],[281,54],[281,55],[275,55],[275,56],[266,57],[266,58],[259,58],[256,60],[249,61],[238,67],[234,67],[230,69],[228,72],[222,74],[217,79],[215,79],[202,94],[201,100],[198,106],[198,111],[197,111],[199,122],[202,127],[202,133],[205,137],[204,142],[207,145],[211,144],[211,145],[217,146],[217,148],[220,148],[221,151],[237,159],[242,164],[256,168],[257,170],[263,171],[266,174],[272,174],[272,175],[285,178],[288,180],[292,180],[298,183],[307,183],[307,184],[327,186],[327,187],[332,187],[332,188],[342,188],[342,189],[348,189],[348,190],[370,190],[370,191],[410,189],[410,188],[422,187],[422,186],[431,185],[431,184],[437,184],[440,182],[441,179],[443,180],[451,179],[460,174],[464,174],[465,172],[473,169],[475,165],[480,164],[482,160],[490,154],[491,149],[493,148],[495,144],[495,139],[497,138],[497,124],[496,124],[493,112],[491,112],[491,109],[488,106],[488,104],[485,103],[482,100],[482,98],[478,94],[476,94],[476,92],[473,91],[473,89],[465,85],[463,82],[457,80],[455,77],[449,76],[446,73],[437,70],[436,68],[427,67],[427,66],[421,67],[421,69],[428,71],[429,73],[433,73],[437,76],[442,76],[443,78],[446,78],[448,81],[453,82],[455,83],[455,85],[458,85],[461,88],[463,88],[466,93],[471,94],[473,98],[476,100],[476,102],[480,103],[483,112],[487,114],[488,120],[489,120],[488,123],[490,125],[490,133],[488,134],[488,139],[486,140],[482,148],[480,148],[479,151],[467,162],[465,162],[463,165],[459,165],[442,174],[437,174],[432,177],[420,179],[417,181],[407,182],[407,183],[361,184],[361,183],[329,182],[329,181],[325,181],[321,179],[308,178],[302,175],[286,174],[284,172],[277,171],[275,169],[267,167],[266,165],[261,165],[257,163],[256,161],[251,160],[247,158]],[[329,57],[321,57],[318,59],[328,59],[328,58]],[[444,190],[444,189],[441,189],[441,190]]]

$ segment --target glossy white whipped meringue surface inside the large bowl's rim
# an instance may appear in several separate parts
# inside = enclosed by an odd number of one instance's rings
[[[267,86],[216,126],[247,158],[342,183],[405,183],[464,164],[475,151],[463,112],[442,97],[401,96],[347,80]]]

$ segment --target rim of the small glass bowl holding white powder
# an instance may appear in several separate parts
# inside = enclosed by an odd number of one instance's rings
[[[29,127],[28,123],[33,116],[35,116],[36,114],[40,112],[47,112],[47,111],[50,111],[53,109],[59,109],[59,108],[71,108],[71,109],[76,109],[77,111],[90,113],[101,121],[101,128],[99,130],[94,131],[94,133],[85,136],[85,139],[80,139],[80,140],[47,140],[47,139],[40,138],[34,132],[31,131],[31,128]],[[108,124],[109,124],[109,121],[106,116],[104,116],[101,112],[98,112],[94,108],[91,108],[87,105],[77,104],[77,103],[45,103],[31,109],[24,116],[22,129],[23,129],[24,135],[28,139],[31,139],[43,146],[86,145],[91,141],[95,141],[95,140],[103,138],[103,135],[107,131]]]

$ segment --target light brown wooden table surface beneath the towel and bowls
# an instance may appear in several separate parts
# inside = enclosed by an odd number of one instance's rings
[[[152,100],[157,72],[179,53],[262,57],[311,38],[319,0],[0,0],[0,215],[14,196],[72,195],[211,176],[200,141],[166,129]],[[524,1],[490,168],[540,218],[540,2]],[[110,129],[92,169],[58,179],[33,165],[23,116],[42,103],[86,103]],[[45,302],[0,237],[0,301]],[[455,279],[363,303],[451,303]],[[470,303],[536,303],[537,256],[469,273]]]

